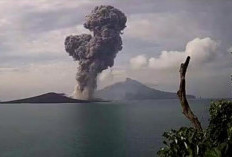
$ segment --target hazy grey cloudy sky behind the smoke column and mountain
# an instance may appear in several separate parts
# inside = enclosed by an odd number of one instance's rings
[[[131,77],[176,92],[179,65],[190,55],[189,94],[232,95],[231,0],[0,0],[0,100],[71,94],[77,63],[64,39],[89,33],[82,24],[97,5],[128,17],[123,50],[99,76],[99,88]]]

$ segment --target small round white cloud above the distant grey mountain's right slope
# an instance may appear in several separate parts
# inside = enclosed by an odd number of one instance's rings
[[[141,69],[147,66],[147,58],[145,55],[138,55],[130,59],[130,65],[133,69]]]

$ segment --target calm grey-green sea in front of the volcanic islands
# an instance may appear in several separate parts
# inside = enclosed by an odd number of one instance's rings
[[[204,126],[210,100],[190,100]],[[154,157],[162,133],[190,126],[178,100],[1,104],[0,157]]]

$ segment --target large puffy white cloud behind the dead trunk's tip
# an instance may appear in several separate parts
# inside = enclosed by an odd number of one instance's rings
[[[187,56],[193,66],[202,66],[217,57],[218,43],[210,38],[196,38],[187,43],[185,51],[162,51],[159,57],[149,59],[149,67],[154,69],[177,68]]]

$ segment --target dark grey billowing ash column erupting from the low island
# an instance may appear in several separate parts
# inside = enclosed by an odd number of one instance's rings
[[[122,50],[120,34],[127,18],[112,6],[95,7],[84,27],[90,34],[71,35],[65,39],[65,50],[79,61],[74,98],[92,99],[97,87],[97,75],[114,65],[114,58]]]

